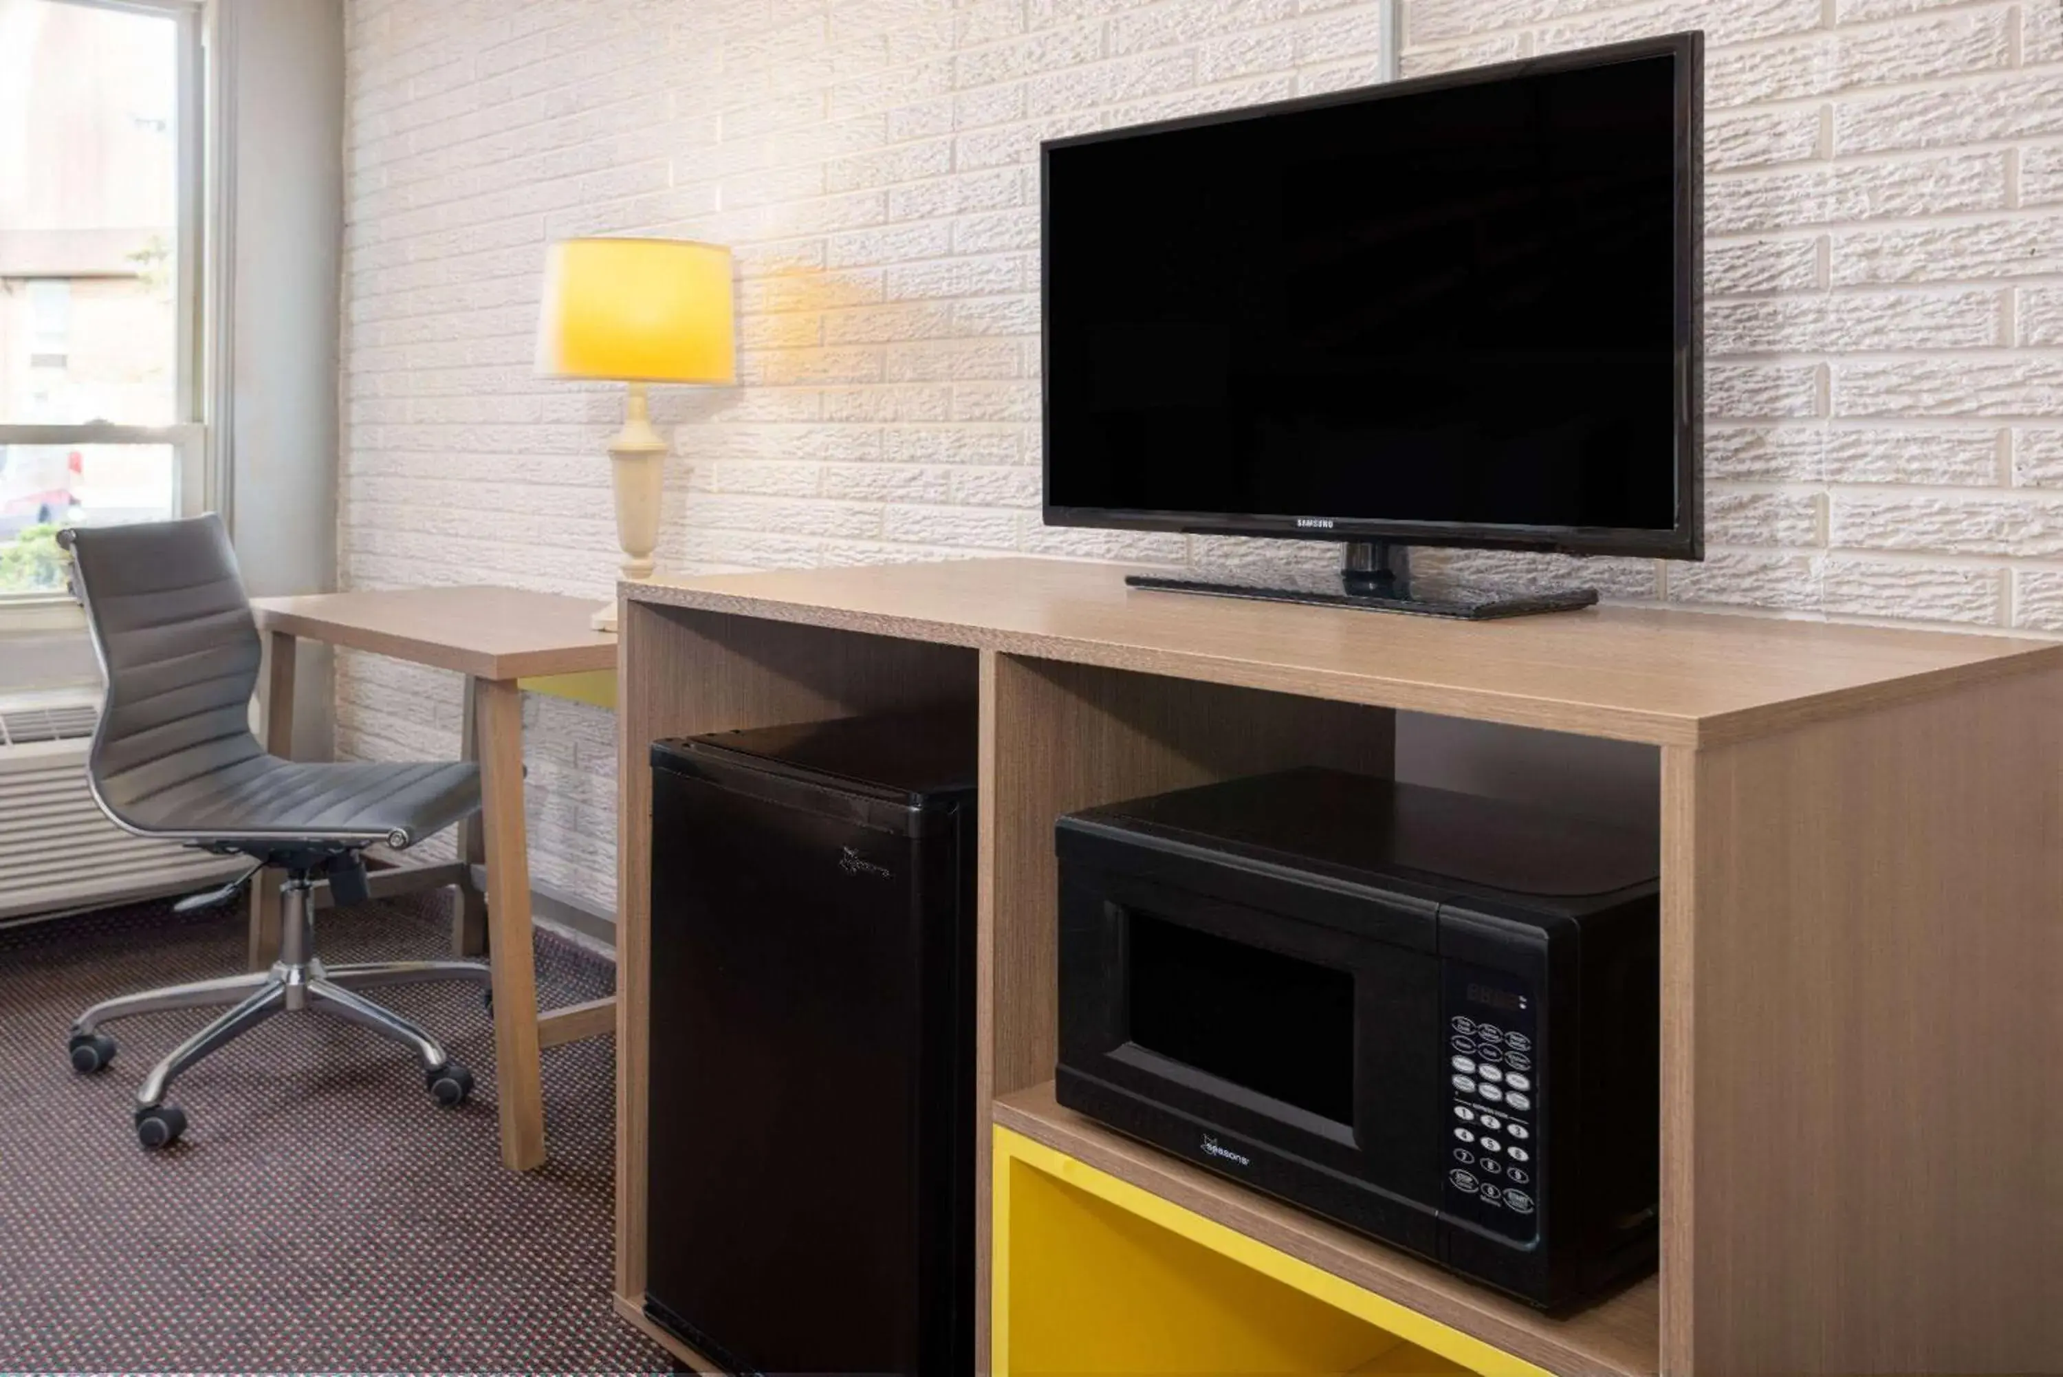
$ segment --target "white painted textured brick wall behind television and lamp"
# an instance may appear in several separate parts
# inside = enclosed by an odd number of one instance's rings
[[[1407,0],[1407,74],[1704,27],[1704,566],[1613,597],[2063,632],[2063,0]],[[547,239],[739,252],[660,390],[666,570],[1324,551],[1046,531],[1042,136],[1372,81],[1357,0],[351,0],[347,586],[602,597],[619,390],[530,376]],[[1566,562],[1469,555],[1504,578]],[[340,669],[349,751],[458,687]],[[607,714],[532,702],[536,873],[611,902]]]

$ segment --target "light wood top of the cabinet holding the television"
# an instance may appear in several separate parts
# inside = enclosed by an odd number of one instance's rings
[[[1448,621],[1151,593],[1124,570],[963,559],[623,584],[648,607],[798,621],[1234,687],[1718,745],[2063,665],[2063,644],[1650,607]]]

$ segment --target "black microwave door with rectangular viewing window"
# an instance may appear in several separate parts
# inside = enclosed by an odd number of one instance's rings
[[[1062,1067],[1178,1111],[1221,1171],[1236,1138],[1438,1210],[1430,950],[1106,873],[1062,886],[1060,997]]]

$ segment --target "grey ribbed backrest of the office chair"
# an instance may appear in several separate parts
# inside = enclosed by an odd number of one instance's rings
[[[60,533],[107,675],[87,772],[116,822],[186,780],[264,756],[250,729],[260,642],[219,516]]]

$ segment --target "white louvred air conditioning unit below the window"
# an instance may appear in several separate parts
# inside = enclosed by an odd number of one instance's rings
[[[130,836],[87,787],[97,687],[0,696],[0,923],[221,884],[250,861]]]

